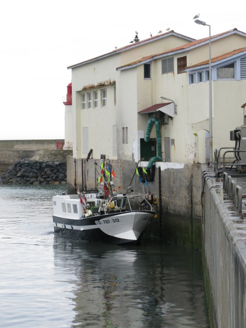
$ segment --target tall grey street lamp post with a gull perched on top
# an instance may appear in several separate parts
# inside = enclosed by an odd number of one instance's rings
[[[210,144],[210,159],[209,166],[213,166],[213,127],[212,127],[212,72],[211,72],[211,26],[200,19],[194,21],[199,25],[209,27],[209,144]]]

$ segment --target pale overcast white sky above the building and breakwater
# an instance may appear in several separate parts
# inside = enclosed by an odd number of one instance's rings
[[[168,27],[196,39],[246,32],[245,1],[8,0],[1,8],[0,140],[64,138],[67,67]]]

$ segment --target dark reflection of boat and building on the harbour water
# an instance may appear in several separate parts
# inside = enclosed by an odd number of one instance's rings
[[[198,252],[55,235],[54,262],[74,273],[73,327],[209,327]]]

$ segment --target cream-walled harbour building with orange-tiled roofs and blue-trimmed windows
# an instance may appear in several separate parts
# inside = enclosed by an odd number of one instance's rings
[[[246,34],[211,37],[213,148],[233,146],[230,130],[243,125]],[[170,31],[69,67],[72,70],[73,157],[206,162],[209,133],[209,38]],[[160,98],[160,95],[162,98]],[[169,100],[166,100],[166,99]],[[150,117],[160,122],[150,142]],[[157,127],[158,128],[158,127]]]

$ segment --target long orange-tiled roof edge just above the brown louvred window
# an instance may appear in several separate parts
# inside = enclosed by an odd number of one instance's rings
[[[238,31],[235,28],[235,29],[232,29],[232,30],[229,30],[229,31],[226,31],[226,32],[219,33],[219,34],[211,36],[211,42],[213,42],[214,40],[216,40],[218,38],[225,37],[225,36],[228,36],[228,35],[231,35],[231,34],[234,34],[234,33],[237,33],[237,34],[239,33],[239,34],[244,35],[246,37],[246,33]],[[199,40],[194,40],[193,42],[189,42],[185,45],[182,45],[182,46],[179,46],[179,47],[176,47],[176,48],[172,48],[172,49],[169,49],[169,50],[161,52],[161,53],[156,53],[156,54],[152,54],[152,55],[149,55],[149,56],[146,56],[146,57],[142,57],[138,60],[132,61],[131,63],[122,65],[120,67],[117,67],[116,70],[122,70],[122,69],[135,67],[138,64],[144,64],[145,61],[148,61],[150,59],[157,59],[157,58],[160,58],[160,57],[163,57],[163,56],[166,56],[166,55],[187,51],[187,50],[199,47],[199,46],[201,46],[203,44],[206,44],[208,42],[209,42],[209,37],[201,38]]]

